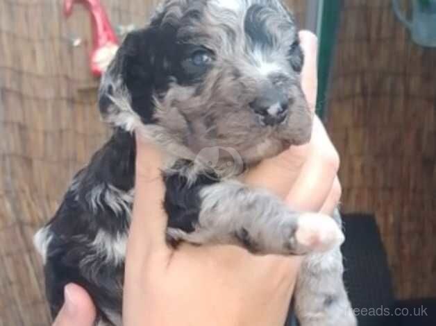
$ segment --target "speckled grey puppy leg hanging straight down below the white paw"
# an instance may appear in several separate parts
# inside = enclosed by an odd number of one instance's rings
[[[339,212],[335,220],[341,225]],[[332,220],[333,221],[333,220]],[[305,257],[295,289],[295,312],[301,326],[355,326],[346,294],[338,247]]]

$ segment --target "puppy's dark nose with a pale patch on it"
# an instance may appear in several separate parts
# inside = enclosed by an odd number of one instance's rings
[[[266,126],[276,126],[287,118],[289,101],[287,97],[277,92],[265,94],[250,103],[251,108],[260,117],[261,123]]]

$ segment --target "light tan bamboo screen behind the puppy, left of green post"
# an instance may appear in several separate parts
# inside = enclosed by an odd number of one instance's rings
[[[114,26],[142,26],[156,0],[101,2]],[[305,1],[290,2],[303,20]],[[108,137],[90,35],[81,6],[66,20],[60,0],[0,0],[0,326],[50,324],[31,238]]]

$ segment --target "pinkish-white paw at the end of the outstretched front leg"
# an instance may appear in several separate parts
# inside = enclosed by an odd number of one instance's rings
[[[299,218],[295,239],[310,250],[324,252],[340,246],[345,237],[330,216],[307,213]]]

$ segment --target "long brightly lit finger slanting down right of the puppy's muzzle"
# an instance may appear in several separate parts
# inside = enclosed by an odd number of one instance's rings
[[[319,118],[314,128],[308,160],[287,195],[294,209],[319,212],[326,202],[339,169],[339,155]]]

